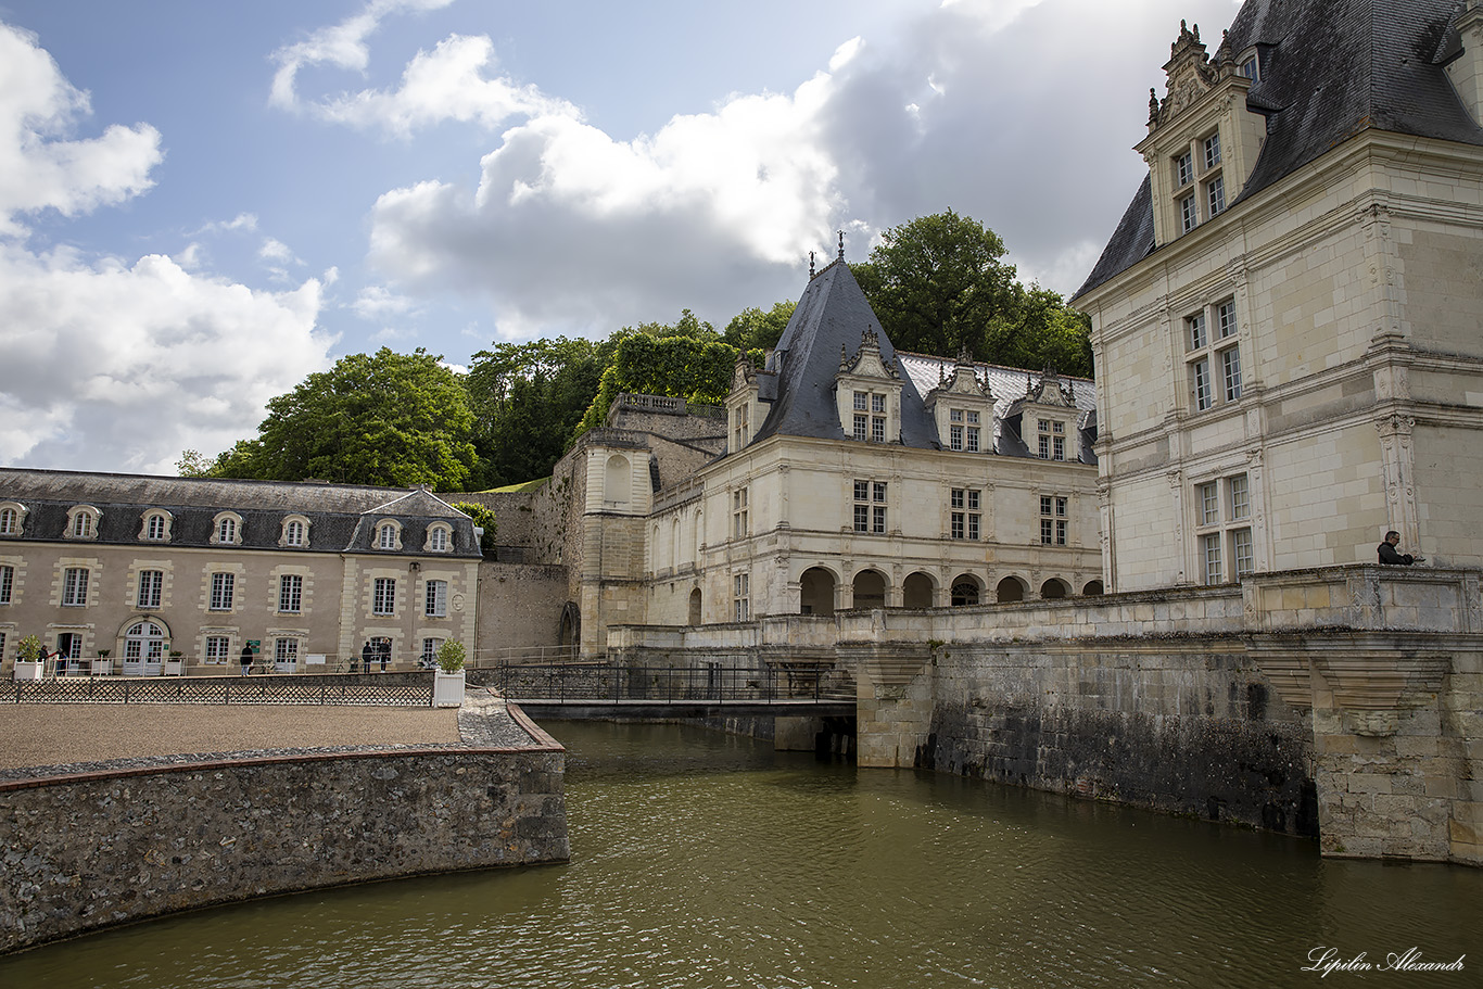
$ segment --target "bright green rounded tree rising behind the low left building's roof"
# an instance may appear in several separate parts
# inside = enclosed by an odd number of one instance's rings
[[[212,473],[461,489],[475,463],[473,414],[439,360],[387,347],[343,357],[270,400],[257,439],[218,457]]]

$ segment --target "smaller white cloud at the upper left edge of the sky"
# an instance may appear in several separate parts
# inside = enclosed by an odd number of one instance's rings
[[[117,203],[153,185],[160,133],[113,125],[101,136],[65,139],[89,110],[28,31],[0,24],[0,236],[27,231],[21,214],[65,216]]]

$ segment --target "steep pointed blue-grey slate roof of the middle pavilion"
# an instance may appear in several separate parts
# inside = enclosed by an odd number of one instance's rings
[[[860,283],[842,259],[808,280],[787,329],[773,350],[767,371],[777,375],[777,399],[753,442],[768,436],[811,436],[845,439],[835,405],[833,381],[839,372],[839,351],[854,359],[865,331],[875,334],[881,360],[896,357],[881,320],[860,291]],[[764,378],[765,381],[765,378]],[[902,375],[902,436],[905,446],[934,449],[937,427],[922,405],[911,375]]]

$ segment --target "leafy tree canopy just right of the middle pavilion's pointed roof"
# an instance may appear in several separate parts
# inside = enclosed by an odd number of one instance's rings
[[[1090,323],[1062,298],[1025,288],[1004,242],[946,211],[887,230],[871,259],[850,270],[885,335],[902,350],[1091,374]]]

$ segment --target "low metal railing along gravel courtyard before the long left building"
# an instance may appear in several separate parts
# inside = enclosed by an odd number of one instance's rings
[[[0,688],[12,704],[354,704],[429,707],[432,684],[295,682],[285,676],[211,676],[162,679],[95,676],[90,679],[13,681]]]

